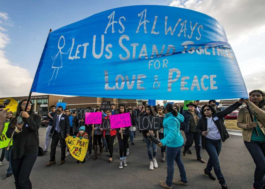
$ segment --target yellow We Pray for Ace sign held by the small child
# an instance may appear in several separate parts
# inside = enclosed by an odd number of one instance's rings
[[[67,136],[65,139],[66,145],[69,148],[70,154],[77,160],[83,161],[86,157],[88,148],[88,139],[79,139],[79,137],[73,138],[73,136]]]

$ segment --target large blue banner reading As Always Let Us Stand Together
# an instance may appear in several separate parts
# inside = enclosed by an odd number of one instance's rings
[[[49,33],[31,91],[128,99],[248,97],[222,25],[199,12],[157,5],[107,10]]]

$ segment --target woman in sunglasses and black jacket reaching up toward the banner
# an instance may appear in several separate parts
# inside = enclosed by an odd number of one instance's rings
[[[227,185],[221,172],[218,157],[222,149],[222,141],[225,141],[229,137],[222,119],[241,106],[243,102],[244,99],[241,98],[238,102],[220,112],[216,112],[215,108],[211,105],[202,106],[202,117],[198,121],[196,127],[197,133],[205,137],[204,145],[209,155],[209,160],[206,168],[204,169],[204,174],[208,175],[210,179],[215,180],[215,177],[211,173],[213,168],[222,189],[227,188]]]

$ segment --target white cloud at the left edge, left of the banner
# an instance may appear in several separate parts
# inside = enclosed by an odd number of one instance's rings
[[[0,12],[0,19],[9,21],[8,14]],[[2,22],[0,22],[2,23]],[[10,42],[6,29],[0,26],[0,96],[25,96],[29,93],[33,78],[29,70],[20,66],[13,66],[5,57],[4,48]]]

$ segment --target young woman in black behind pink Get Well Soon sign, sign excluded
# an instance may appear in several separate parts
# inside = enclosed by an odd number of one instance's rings
[[[127,110],[123,104],[119,107],[119,114],[127,113]],[[118,143],[119,143],[119,150],[120,150],[120,166],[119,168],[122,169],[123,167],[127,166],[127,160],[126,160],[126,147],[128,143],[128,139],[130,136],[130,128],[129,127],[123,127],[121,129],[116,129],[116,131],[119,133],[117,135]],[[123,136],[123,139],[122,139]]]

